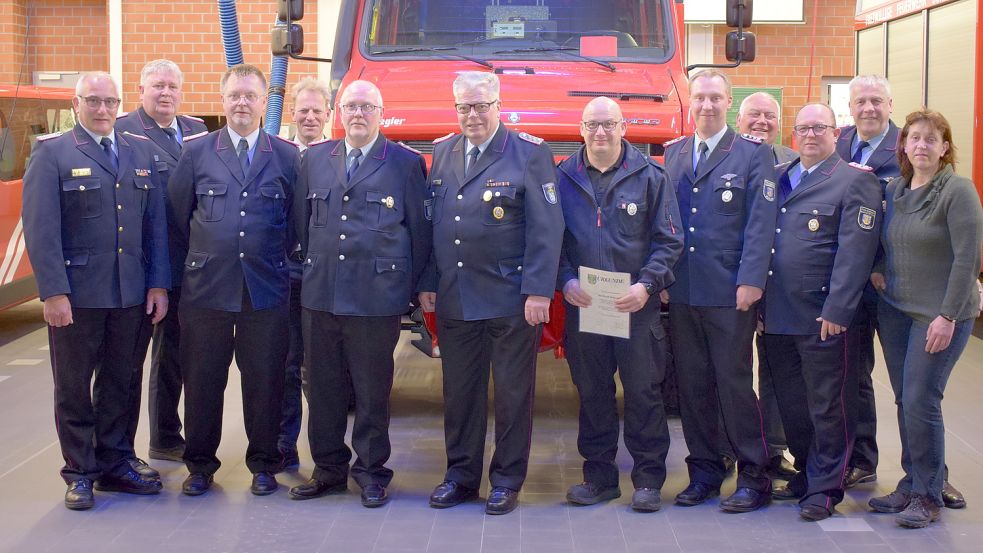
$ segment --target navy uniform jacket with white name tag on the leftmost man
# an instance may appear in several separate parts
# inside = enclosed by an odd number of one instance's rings
[[[160,176],[145,138],[116,133],[119,172],[81,125],[38,140],[24,175],[24,239],[41,299],[142,304],[170,288]]]

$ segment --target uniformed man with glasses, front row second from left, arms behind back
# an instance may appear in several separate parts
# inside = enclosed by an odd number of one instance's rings
[[[228,125],[186,140],[168,185],[173,232],[184,261],[181,369],[184,373],[183,491],[208,491],[220,462],[222,398],[235,355],[242,375],[246,466],[251,491],[277,489],[290,277],[295,244],[291,200],[297,145],[259,128],[266,79],[251,65],[222,76]]]

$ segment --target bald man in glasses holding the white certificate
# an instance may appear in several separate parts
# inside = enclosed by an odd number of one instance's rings
[[[670,269],[683,248],[676,196],[665,171],[623,136],[627,124],[610,98],[584,108],[584,146],[559,166],[566,230],[557,288],[567,302],[566,353],[580,395],[577,447],[584,482],[567,501],[592,505],[621,496],[618,487],[618,405],[614,373],[625,396],[625,446],[635,465],[631,507],[662,507],[669,426],[662,403],[666,334],[658,292],[672,284]],[[628,294],[614,306],[630,313],[629,336],[615,338],[579,330],[580,308],[593,298],[581,289],[581,267],[629,273]],[[655,295],[654,299],[650,297]]]

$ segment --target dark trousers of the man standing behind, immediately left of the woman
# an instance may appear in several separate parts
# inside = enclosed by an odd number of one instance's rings
[[[847,394],[851,412],[856,416],[850,421],[854,434],[853,454],[850,466],[864,470],[877,470],[877,410],[874,405],[874,333],[877,331],[877,292],[868,282],[857,314],[848,332],[853,335],[858,386]]]

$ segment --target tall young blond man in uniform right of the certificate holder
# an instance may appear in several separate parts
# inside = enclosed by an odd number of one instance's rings
[[[753,511],[771,499],[768,448],[751,372],[754,304],[761,298],[775,236],[772,151],[727,126],[730,81],[707,70],[690,79],[696,134],[666,150],[686,244],[663,291],[669,301],[690,483],[676,503],[720,493],[720,447],[737,456],[737,491],[725,511]],[[720,416],[723,416],[723,428]]]

